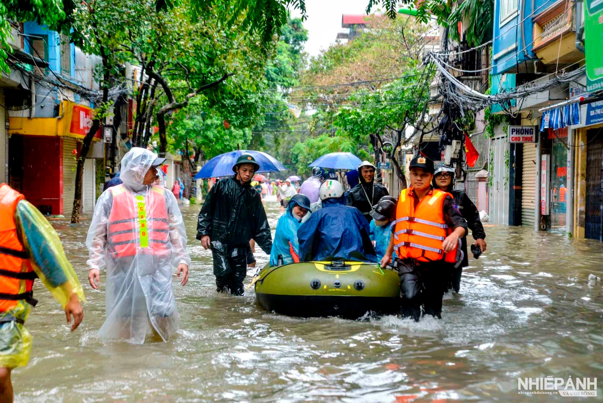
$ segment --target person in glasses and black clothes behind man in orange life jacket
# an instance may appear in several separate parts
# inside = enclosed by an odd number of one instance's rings
[[[475,239],[475,246],[479,246],[481,251],[485,252],[486,241],[484,239],[486,237],[486,233],[484,232],[482,222],[479,220],[478,209],[464,191],[452,189],[454,179],[454,168],[443,163],[435,167],[433,183],[434,188],[440,188],[444,192],[449,192],[452,194],[456,208],[459,212],[461,212],[463,218],[467,220],[467,226],[472,231],[473,239]],[[452,269],[452,276],[448,285],[448,289],[452,288],[452,290],[455,290],[456,293],[458,293],[459,289],[461,288],[461,273],[463,272],[463,267],[467,267],[469,265],[469,259],[467,258],[467,235],[463,236],[461,247],[464,253],[463,263],[459,265],[458,268]]]

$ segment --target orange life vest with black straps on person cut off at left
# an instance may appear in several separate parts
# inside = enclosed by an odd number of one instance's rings
[[[31,291],[37,275],[19,241],[14,222],[17,203],[24,198],[6,183],[0,185],[0,312],[14,308],[19,300],[33,306],[37,303]]]

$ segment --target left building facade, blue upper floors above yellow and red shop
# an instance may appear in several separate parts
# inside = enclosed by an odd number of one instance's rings
[[[69,215],[81,140],[92,124],[95,106],[89,99],[98,90],[98,59],[35,22],[14,24],[12,34],[11,71],[0,78],[0,182],[22,192],[43,214]],[[84,163],[83,214],[92,214],[97,185],[103,185],[96,180],[104,177],[103,146],[99,130]]]

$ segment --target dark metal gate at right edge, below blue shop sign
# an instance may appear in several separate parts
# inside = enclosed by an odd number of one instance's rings
[[[603,170],[603,129],[586,132],[586,220],[584,236],[590,240],[602,240],[603,192],[601,170]]]

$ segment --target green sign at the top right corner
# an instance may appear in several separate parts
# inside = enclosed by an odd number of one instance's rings
[[[603,2],[601,0],[584,0],[584,37],[603,37]],[[601,41],[586,40],[586,90],[593,92],[603,88],[603,52]]]

